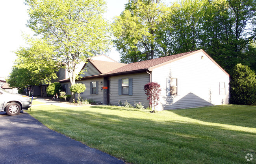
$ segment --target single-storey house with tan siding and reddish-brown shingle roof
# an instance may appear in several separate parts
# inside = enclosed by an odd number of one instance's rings
[[[76,83],[87,87],[82,98],[101,104],[149,102],[144,85],[161,86],[158,110],[228,104],[229,75],[205,51],[191,51],[130,64],[118,63],[107,56],[88,60],[87,70]],[[59,80],[70,94],[69,79]]]

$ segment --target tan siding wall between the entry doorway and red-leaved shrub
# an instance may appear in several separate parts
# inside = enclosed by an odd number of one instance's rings
[[[132,78],[132,96],[118,94],[118,80],[121,78]],[[149,82],[147,73],[135,73],[110,77],[110,104],[118,105],[119,100],[124,103],[126,100],[130,104],[141,102],[145,107],[149,106],[147,95],[145,95],[144,85]]]

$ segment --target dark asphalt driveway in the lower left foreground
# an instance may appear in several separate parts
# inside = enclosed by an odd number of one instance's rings
[[[0,112],[0,164],[121,164],[122,160],[48,129],[28,113]]]

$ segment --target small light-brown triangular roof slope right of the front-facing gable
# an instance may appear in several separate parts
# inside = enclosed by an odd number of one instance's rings
[[[106,62],[106,61],[100,61],[100,60],[91,60],[89,59],[89,62],[95,66],[95,68],[101,73],[107,73],[109,71],[113,71],[114,69],[117,69],[122,66],[126,66],[127,64],[124,63],[115,63],[115,62]]]

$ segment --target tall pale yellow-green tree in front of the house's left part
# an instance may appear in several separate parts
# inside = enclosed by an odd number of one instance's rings
[[[102,16],[106,2],[26,0],[26,4],[30,16],[27,26],[54,46],[54,59],[65,64],[71,86],[74,85],[76,66],[87,57],[108,49],[108,23]]]

